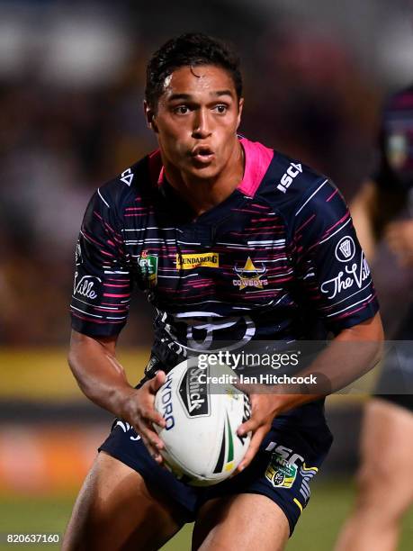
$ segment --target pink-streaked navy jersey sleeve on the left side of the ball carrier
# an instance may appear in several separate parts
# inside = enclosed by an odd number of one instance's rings
[[[87,206],[76,244],[70,312],[74,330],[116,335],[125,325],[132,280],[121,223],[109,194],[97,190]]]

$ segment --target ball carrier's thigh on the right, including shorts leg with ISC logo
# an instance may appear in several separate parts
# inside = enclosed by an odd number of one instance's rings
[[[313,429],[273,426],[245,471],[205,489],[193,547],[283,549],[330,445],[325,424]]]

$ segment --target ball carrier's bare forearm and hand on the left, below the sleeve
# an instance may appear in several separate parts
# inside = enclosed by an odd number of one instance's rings
[[[159,371],[139,389],[128,383],[125,371],[115,356],[117,336],[93,338],[72,330],[68,363],[77,384],[95,404],[130,423],[143,438],[150,454],[160,463],[158,450],[163,442],[152,423],[165,426],[153,404],[158,388],[165,382]]]

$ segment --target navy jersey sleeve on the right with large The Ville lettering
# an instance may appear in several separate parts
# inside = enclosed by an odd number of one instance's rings
[[[337,187],[314,185],[294,214],[293,245],[300,293],[337,333],[379,310],[370,268]]]

